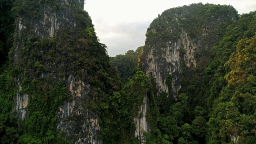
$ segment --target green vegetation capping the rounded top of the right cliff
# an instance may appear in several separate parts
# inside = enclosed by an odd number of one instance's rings
[[[215,42],[221,38],[221,32],[234,21],[231,16],[235,20],[238,18],[237,11],[230,5],[198,3],[171,8],[162,12],[150,24],[146,44],[157,46],[165,44],[163,42],[175,42],[184,31],[191,38],[202,38],[202,34],[207,32],[215,36],[211,40]]]

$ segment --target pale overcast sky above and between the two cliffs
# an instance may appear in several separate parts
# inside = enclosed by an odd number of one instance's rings
[[[164,10],[198,2],[230,4],[239,14],[256,10],[256,0],[86,0],[84,10],[108,55],[116,56],[143,46],[148,26]]]

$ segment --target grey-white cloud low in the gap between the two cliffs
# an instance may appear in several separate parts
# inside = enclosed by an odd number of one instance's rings
[[[100,42],[108,46],[108,54],[116,56],[128,50],[136,50],[145,42],[146,29],[151,21],[121,22],[116,25],[105,25],[106,31],[97,33]],[[96,30],[97,32],[97,30]]]

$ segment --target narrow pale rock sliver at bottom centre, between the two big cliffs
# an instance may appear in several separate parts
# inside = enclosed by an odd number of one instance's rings
[[[134,118],[134,123],[136,127],[135,137],[140,140],[142,144],[146,142],[146,138],[144,136],[144,132],[150,132],[150,126],[148,124],[146,113],[148,111],[148,96],[144,96],[143,104],[140,106],[138,116]]]

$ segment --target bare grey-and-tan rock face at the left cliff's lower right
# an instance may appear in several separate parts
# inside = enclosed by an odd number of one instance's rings
[[[72,75],[68,77],[68,90],[73,97],[72,101],[65,101],[63,106],[59,107],[57,129],[64,133],[64,137],[73,140],[79,136],[74,143],[102,144],[98,139],[100,126],[98,115],[84,108],[88,101],[90,84],[81,80],[76,80]]]

